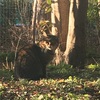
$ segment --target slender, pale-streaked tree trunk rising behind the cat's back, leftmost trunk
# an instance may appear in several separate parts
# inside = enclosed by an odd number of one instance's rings
[[[32,5],[32,24],[31,31],[33,33],[33,43],[35,43],[36,36],[38,37],[37,27],[39,26],[39,22],[44,19],[44,12],[42,9],[42,3],[44,0],[34,0]]]

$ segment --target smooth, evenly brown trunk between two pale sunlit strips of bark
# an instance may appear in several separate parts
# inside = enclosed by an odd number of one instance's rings
[[[68,22],[69,22],[69,0],[59,0],[59,10],[61,16],[61,31],[59,34],[60,50],[62,52],[66,49],[66,39],[68,35]]]

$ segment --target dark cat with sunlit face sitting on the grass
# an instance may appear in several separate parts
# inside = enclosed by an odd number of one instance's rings
[[[46,65],[53,59],[58,38],[49,35],[38,44],[27,45],[17,53],[15,77],[28,80],[46,78]]]

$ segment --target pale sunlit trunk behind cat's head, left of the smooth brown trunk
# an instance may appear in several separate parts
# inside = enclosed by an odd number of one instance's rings
[[[58,5],[58,0],[52,0],[51,2],[51,34],[58,36],[60,33],[60,12],[59,12],[59,5]],[[59,57],[59,49],[57,48],[55,53],[55,58],[53,60],[53,64],[58,64],[60,62],[60,57]]]

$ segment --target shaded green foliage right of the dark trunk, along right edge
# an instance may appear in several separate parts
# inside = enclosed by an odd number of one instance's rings
[[[100,31],[100,5],[98,0],[89,0],[87,11],[87,34],[86,34],[86,57],[89,64],[98,62],[100,59],[99,53],[99,31]]]

